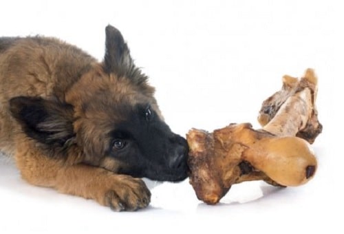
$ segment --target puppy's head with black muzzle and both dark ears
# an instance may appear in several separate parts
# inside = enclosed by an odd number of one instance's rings
[[[69,87],[63,102],[21,96],[10,100],[10,110],[52,156],[134,177],[183,180],[186,140],[164,123],[153,94],[122,35],[109,25],[103,63]]]

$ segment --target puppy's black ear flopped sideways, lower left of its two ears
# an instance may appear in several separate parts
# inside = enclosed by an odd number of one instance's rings
[[[75,136],[72,105],[19,96],[10,100],[10,111],[26,135],[50,147],[65,147]]]

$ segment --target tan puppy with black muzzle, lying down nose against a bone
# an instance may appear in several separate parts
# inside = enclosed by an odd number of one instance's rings
[[[151,200],[140,178],[184,180],[189,149],[120,31],[105,35],[102,62],[59,39],[0,38],[0,151],[30,184],[136,211]]]

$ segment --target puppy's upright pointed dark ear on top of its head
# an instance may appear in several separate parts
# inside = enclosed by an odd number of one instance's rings
[[[105,35],[104,70],[108,74],[114,72],[120,77],[125,76],[135,67],[127,43],[120,31],[111,25],[105,28]]]

